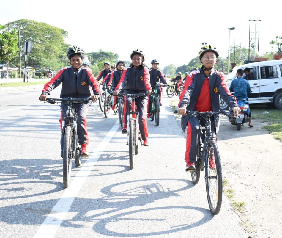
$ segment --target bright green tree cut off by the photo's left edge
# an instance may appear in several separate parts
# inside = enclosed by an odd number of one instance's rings
[[[0,61],[9,62],[18,54],[17,32],[12,29],[10,32],[0,25]]]

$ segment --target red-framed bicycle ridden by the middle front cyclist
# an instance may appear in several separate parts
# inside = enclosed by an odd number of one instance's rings
[[[135,99],[141,96],[146,96],[146,93],[137,93],[137,94],[127,94],[119,93],[121,96],[132,97],[131,99],[131,111],[127,112],[127,131],[126,131],[126,140],[127,145],[129,145],[129,167],[133,169],[134,167],[134,156],[139,153],[138,151],[138,140],[140,140],[141,145],[143,142],[141,137],[139,137],[139,113],[137,112],[137,107],[135,104]]]

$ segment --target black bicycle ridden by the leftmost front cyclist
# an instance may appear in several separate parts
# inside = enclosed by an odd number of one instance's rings
[[[77,114],[73,103],[88,103],[91,98],[47,98],[45,102],[50,104],[58,104],[56,101],[67,103],[67,111],[63,113],[62,134],[61,134],[61,157],[63,158],[63,183],[67,188],[70,184],[70,175],[72,168],[72,159],[75,159],[75,165],[81,165],[80,144],[77,137],[76,122]]]

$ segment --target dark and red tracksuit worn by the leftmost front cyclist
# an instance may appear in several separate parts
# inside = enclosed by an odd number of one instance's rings
[[[44,85],[42,94],[50,95],[51,91],[62,83],[61,98],[89,98],[93,95],[100,95],[100,85],[94,78],[92,72],[88,68],[80,67],[78,69],[73,66],[62,68],[56,76]],[[92,90],[94,89],[94,92]],[[75,103],[77,113],[77,134],[80,144],[88,144],[86,114],[88,105],[84,103]],[[65,104],[62,103],[63,112]],[[61,113],[60,123],[62,129]]]

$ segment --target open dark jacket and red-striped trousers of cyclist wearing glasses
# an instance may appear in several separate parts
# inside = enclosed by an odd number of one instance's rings
[[[209,95],[202,95],[204,92],[209,92]],[[211,74],[207,77],[204,74],[204,71],[200,68],[198,70],[192,71],[186,78],[184,89],[180,95],[178,107],[186,107],[188,111],[195,110],[195,106],[203,104],[205,102],[204,98],[210,97],[209,105],[203,105],[205,107],[210,107],[213,112],[220,111],[220,95],[223,100],[228,103],[229,107],[237,106],[237,101],[234,96],[231,95],[229,88],[226,85],[225,76],[212,69]],[[203,101],[198,101],[199,98],[202,98]],[[198,109],[199,111],[199,109]],[[186,153],[185,159],[186,162],[195,162],[196,153],[197,153],[197,133],[199,124],[199,117],[182,116],[181,118],[181,127],[185,131],[187,128],[187,138],[186,138]],[[211,118],[212,122],[215,122],[215,127],[212,128],[212,131],[215,133],[219,129],[219,115]],[[203,121],[204,122],[204,121]]]

